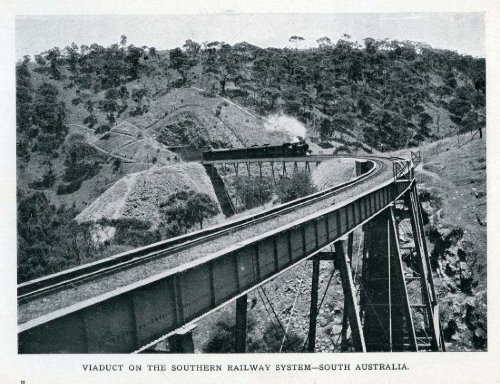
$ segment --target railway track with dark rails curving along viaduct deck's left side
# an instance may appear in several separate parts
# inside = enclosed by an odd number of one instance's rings
[[[375,158],[356,156],[353,158],[369,160],[372,162],[373,167],[369,172],[353,180],[295,201],[282,204],[256,215],[223,223],[205,230],[193,232],[171,240],[152,244],[90,264],[72,268],[67,271],[19,284],[18,306],[30,303],[31,301],[36,301],[37,299],[41,299],[42,301],[46,300],[48,296],[53,293],[57,293],[58,291],[71,290],[72,288],[91,282],[92,280],[139,267],[141,264],[146,264],[152,260],[177,254],[180,251],[188,250],[196,245],[203,244],[210,240],[215,240],[243,228],[262,223],[274,217],[281,216],[291,211],[314,204],[318,201],[330,198],[360,184],[366,183],[368,180],[380,175],[387,169],[387,163],[390,160],[389,158],[383,157]],[[314,160],[311,159],[310,161]]]

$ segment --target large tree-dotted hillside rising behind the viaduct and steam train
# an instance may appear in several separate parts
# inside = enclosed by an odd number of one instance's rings
[[[187,198],[177,182],[213,198],[186,164],[206,148],[305,136],[317,153],[377,153],[484,128],[484,59],[408,41],[318,42],[158,51],[122,39],[17,63],[19,280],[187,230],[161,227],[159,211]],[[264,185],[228,183],[238,210],[274,201],[264,173]]]

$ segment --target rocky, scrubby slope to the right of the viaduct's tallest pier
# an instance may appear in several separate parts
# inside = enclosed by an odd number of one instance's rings
[[[461,135],[420,149],[416,174],[447,348],[485,350],[486,140]]]

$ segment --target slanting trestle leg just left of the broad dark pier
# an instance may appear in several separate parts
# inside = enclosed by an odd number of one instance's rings
[[[352,279],[351,269],[347,261],[347,255],[344,252],[343,241],[335,243],[336,265],[340,270],[342,288],[344,297],[348,303],[349,324],[351,326],[352,339],[356,351],[366,352],[365,338],[361,328],[361,319],[359,317],[358,305],[356,300],[356,290]]]

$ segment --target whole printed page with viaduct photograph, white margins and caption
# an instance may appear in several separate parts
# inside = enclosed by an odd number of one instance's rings
[[[9,348],[135,382],[491,360],[486,22],[14,15]]]

